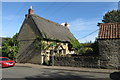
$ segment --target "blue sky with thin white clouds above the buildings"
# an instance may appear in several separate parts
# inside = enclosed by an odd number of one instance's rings
[[[94,42],[97,23],[101,23],[106,12],[118,9],[117,2],[3,2],[2,37],[19,32],[31,5],[34,14],[59,24],[68,22],[71,33],[81,43]]]

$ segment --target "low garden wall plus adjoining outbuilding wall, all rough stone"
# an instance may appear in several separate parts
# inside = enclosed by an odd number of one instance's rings
[[[98,46],[99,56],[54,57],[54,65],[120,70],[120,39],[101,39],[98,40]]]

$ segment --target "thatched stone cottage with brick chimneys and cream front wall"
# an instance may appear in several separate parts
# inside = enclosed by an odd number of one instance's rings
[[[70,53],[70,38],[73,40],[76,39],[67,25],[66,23],[63,26],[44,19],[34,14],[32,7],[30,7],[19,31],[19,52],[17,54],[17,62],[42,64],[45,55],[49,57],[53,53],[56,55],[66,55]],[[42,38],[41,41],[48,47],[47,49],[36,50],[35,45],[39,44],[39,41],[36,43],[38,36]]]

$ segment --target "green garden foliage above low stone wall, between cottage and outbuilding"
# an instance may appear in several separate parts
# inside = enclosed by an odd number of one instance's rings
[[[68,37],[69,38],[69,37]],[[82,43],[80,44],[78,40],[70,39],[70,44],[76,53],[80,54],[98,54],[98,42],[94,43]]]

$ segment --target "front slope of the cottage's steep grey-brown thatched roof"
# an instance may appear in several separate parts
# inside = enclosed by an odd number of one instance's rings
[[[34,21],[35,26],[42,33],[43,38],[61,41],[70,41],[69,38],[76,39],[66,26],[62,26],[35,14],[27,14],[27,16]]]

